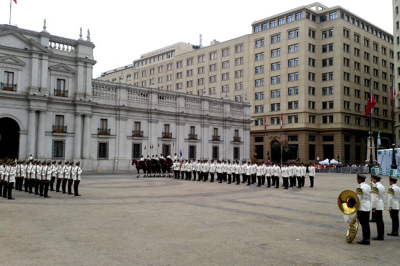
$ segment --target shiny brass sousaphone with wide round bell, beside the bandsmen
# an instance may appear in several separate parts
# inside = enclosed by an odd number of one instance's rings
[[[338,197],[339,209],[346,215],[352,215],[356,213],[358,207],[360,206],[360,200],[357,194],[352,190],[344,190],[340,193]],[[349,223],[346,235],[347,243],[352,243],[357,235],[358,230],[358,217],[357,214],[354,216],[353,220]]]

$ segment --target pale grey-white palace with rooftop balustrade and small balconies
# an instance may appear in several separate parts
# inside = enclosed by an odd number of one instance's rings
[[[248,160],[250,105],[92,79],[95,45],[0,25],[0,158],[129,170],[140,155]]]

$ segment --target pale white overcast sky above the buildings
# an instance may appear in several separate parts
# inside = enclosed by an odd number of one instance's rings
[[[11,25],[47,31],[71,39],[86,39],[90,29],[96,45],[93,78],[101,72],[132,63],[141,54],[177,43],[226,41],[252,32],[251,23],[281,12],[309,5],[314,0],[286,1],[132,1],[132,0],[17,0],[12,2]],[[272,4],[273,3],[273,4]],[[323,0],[328,7],[341,6],[392,33],[392,1]],[[9,22],[10,2],[0,2],[0,23]]]

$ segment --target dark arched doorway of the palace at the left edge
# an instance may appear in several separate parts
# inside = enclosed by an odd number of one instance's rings
[[[0,118],[0,158],[18,158],[19,126],[10,117]],[[18,158],[19,159],[19,158]]]

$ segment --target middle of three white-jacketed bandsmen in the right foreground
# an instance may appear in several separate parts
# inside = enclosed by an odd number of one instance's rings
[[[378,236],[372,237],[373,240],[383,240],[385,237],[385,225],[383,223],[382,212],[384,209],[383,199],[385,197],[385,187],[381,184],[381,177],[372,174],[372,182],[374,183],[371,189],[371,208],[375,212],[375,219],[377,220]],[[369,218],[369,216],[368,216]]]

